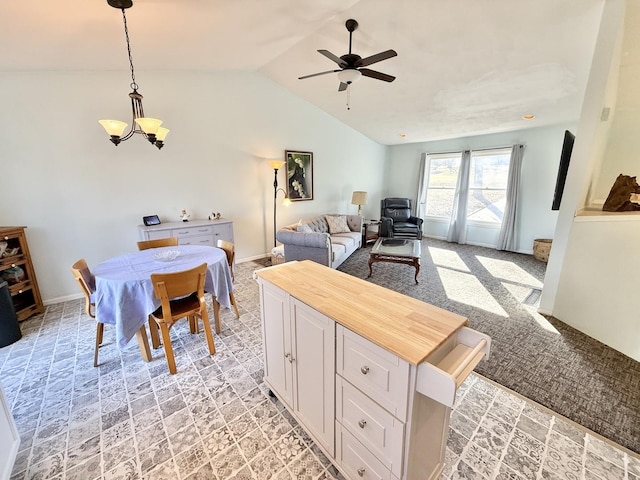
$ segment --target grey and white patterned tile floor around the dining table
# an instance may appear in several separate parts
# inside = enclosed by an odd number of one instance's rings
[[[0,349],[0,382],[22,442],[12,480],[342,479],[262,384],[258,263],[236,267],[241,317],[223,311],[209,356],[187,322],[162,349],[119,350],[110,329],[94,368],[81,301],[51,305]],[[482,377],[463,384],[442,478],[640,480],[640,458]]]

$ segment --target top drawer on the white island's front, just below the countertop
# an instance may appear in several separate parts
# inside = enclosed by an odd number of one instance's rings
[[[338,326],[337,372],[402,422],[407,420],[409,364]]]

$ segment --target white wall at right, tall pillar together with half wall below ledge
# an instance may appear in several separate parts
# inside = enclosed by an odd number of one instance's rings
[[[615,106],[624,111],[625,98],[629,98],[618,92],[616,105],[615,94],[612,95],[619,78],[625,4],[624,0],[611,0],[604,7],[567,176],[566,202],[563,199],[558,218],[556,237],[561,241],[554,242],[551,249],[540,310],[640,361],[634,288],[640,270],[640,216],[592,212],[575,217],[575,212],[588,202],[589,189],[598,172],[606,171],[609,161],[618,162],[625,146],[628,154],[635,154],[635,148],[630,148],[633,142],[612,145],[624,126],[618,125],[612,137],[611,120],[601,120],[604,107]],[[638,25],[633,25],[633,34],[637,31]],[[635,139],[637,133],[631,134]]]

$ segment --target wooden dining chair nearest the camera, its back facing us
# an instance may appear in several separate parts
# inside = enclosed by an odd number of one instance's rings
[[[197,328],[198,318],[202,319],[204,334],[207,338],[209,353],[216,353],[213,343],[213,333],[209,323],[207,304],[204,299],[204,281],[207,272],[207,264],[174,273],[152,273],[151,283],[156,298],[161,302],[160,307],[149,315],[149,329],[151,330],[151,343],[153,348],[158,348],[160,339],[158,327],[162,334],[162,345],[167,357],[169,373],[176,373],[176,360],[171,346],[169,330],[181,318],[189,319],[191,333]]]

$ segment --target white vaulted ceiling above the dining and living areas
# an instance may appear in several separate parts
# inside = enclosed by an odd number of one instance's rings
[[[140,78],[259,71],[393,145],[577,120],[603,2],[134,0],[127,21]],[[122,15],[106,0],[14,1],[2,10],[0,75],[128,70]],[[369,67],[396,80],[363,77],[348,92],[338,92],[337,74],[298,80],[337,68],[317,50],[347,53],[349,18],[359,23],[354,53],[398,52]]]

